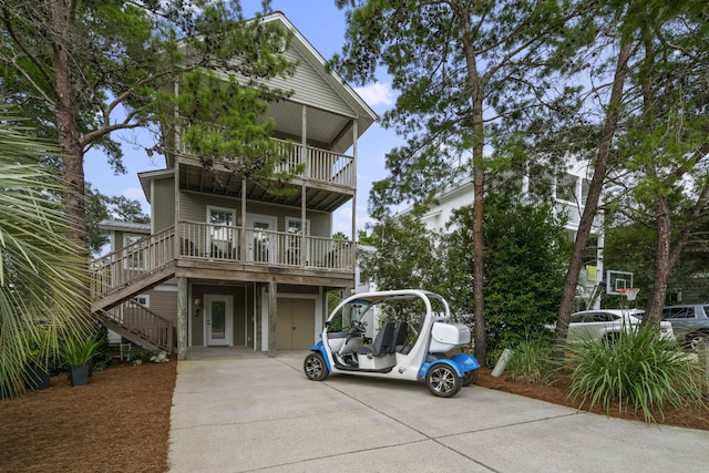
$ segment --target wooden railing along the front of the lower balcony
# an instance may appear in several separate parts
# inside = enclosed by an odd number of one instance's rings
[[[178,232],[181,256],[186,258],[347,271],[353,268],[351,241],[198,222],[181,222]]]

